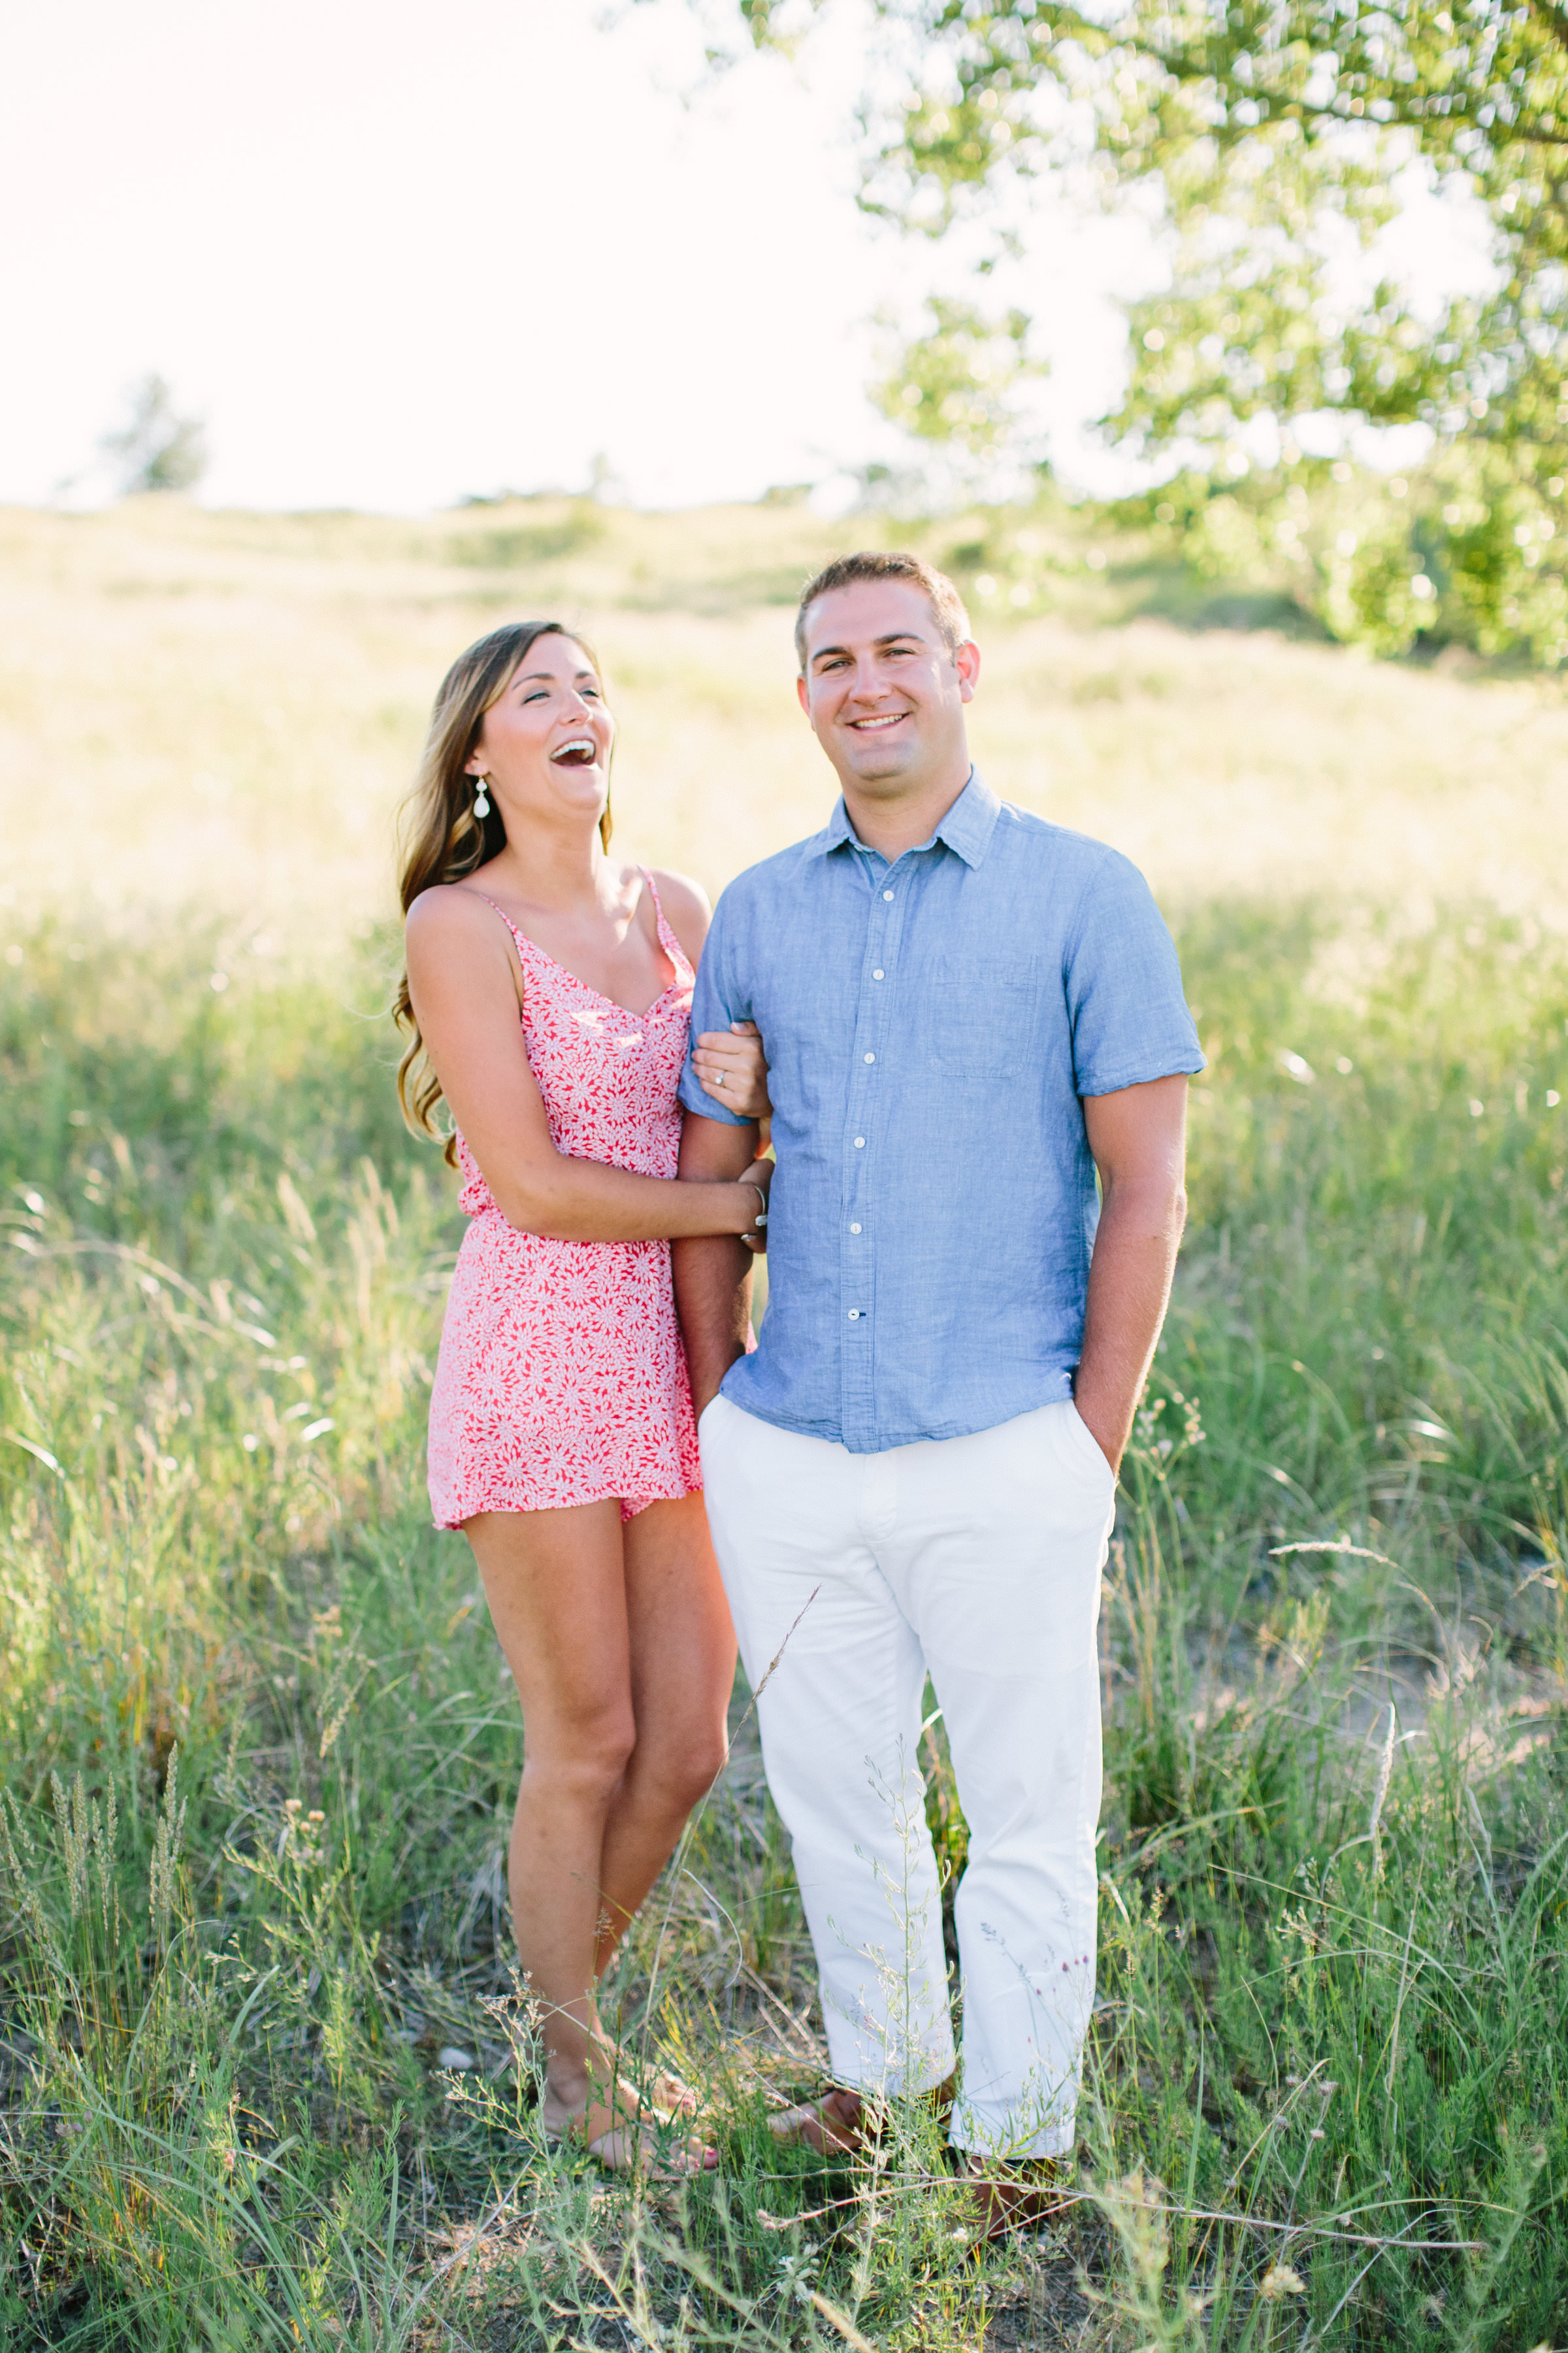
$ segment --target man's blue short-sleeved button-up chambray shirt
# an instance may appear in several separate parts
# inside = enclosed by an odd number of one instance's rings
[[[971,769],[891,866],[844,802],[729,885],[691,1031],[755,1021],[769,1306],[724,1395],[879,1454],[1072,1395],[1098,1224],[1084,1094],[1201,1071],[1138,868]],[[682,1104],[741,1125],[696,1078]]]

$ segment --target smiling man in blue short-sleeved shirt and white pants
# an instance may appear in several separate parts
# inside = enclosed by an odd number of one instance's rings
[[[1204,1056],[1143,875],[973,769],[980,652],[952,581],[842,558],[806,588],[797,652],[842,800],[724,892],[691,1014],[755,1021],[769,1056],[757,1351],[743,1245],[677,1242],[675,1285],[820,1969],[835,2089],[799,2129],[849,2146],[863,2094],[954,2068],[917,1762],[929,1673],[969,1821],[952,2141],[983,2179],[1032,2177],[1074,2141],[1100,1569]],[[755,1122],[691,1064],[682,1101],[682,1176],[736,1176]]]

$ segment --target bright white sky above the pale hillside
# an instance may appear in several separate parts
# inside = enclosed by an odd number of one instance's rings
[[[158,369],[202,496],[418,511],[501,485],[755,496],[905,447],[863,386],[924,261],[853,205],[853,16],[717,87],[679,0],[73,0],[0,26],[0,499],[103,494]],[[696,94],[693,94],[696,92]],[[1051,214],[1074,426],[1138,231]],[[933,261],[936,268],[936,261]]]

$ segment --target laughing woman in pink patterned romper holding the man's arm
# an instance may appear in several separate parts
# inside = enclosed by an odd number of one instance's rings
[[[670,2078],[628,2085],[595,1986],[726,1753],[736,1664],[708,1541],[670,1240],[759,1240],[769,1165],[677,1179],[703,892],[616,866],[614,720],[555,621],[447,673],[402,873],[409,1120],[463,1174],[430,1398],[430,1501],[473,1544],[524,1713],[508,1859],[543,2009],[550,2137],[602,2162],[717,2162]],[[752,1035],[698,1042],[705,1087],[766,1108]],[[675,2125],[670,2125],[675,2115]]]

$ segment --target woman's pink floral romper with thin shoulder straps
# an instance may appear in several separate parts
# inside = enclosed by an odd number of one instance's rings
[[[522,1040],[555,1148],[675,1176],[691,965],[646,882],[675,979],[644,1014],[611,1005],[496,913],[517,941]],[[670,1245],[520,1233],[461,1136],[458,1167],[470,1224],[430,1393],[435,1525],[604,1497],[618,1497],[630,1520],[696,1494],[703,1473]]]

